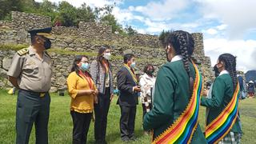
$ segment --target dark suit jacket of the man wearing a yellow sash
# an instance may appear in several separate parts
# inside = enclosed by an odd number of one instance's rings
[[[136,82],[126,67],[122,67],[117,74],[118,90],[120,95],[117,104],[120,106],[136,106],[138,104],[138,93],[133,91]]]

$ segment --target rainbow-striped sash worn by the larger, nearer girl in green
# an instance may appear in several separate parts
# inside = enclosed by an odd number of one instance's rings
[[[199,100],[202,91],[202,76],[198,67],[194,62],[192,63],[195,69],[195,80],[190,102],[182,115],[152,143],[190,143],[194,130],[198,126]]]

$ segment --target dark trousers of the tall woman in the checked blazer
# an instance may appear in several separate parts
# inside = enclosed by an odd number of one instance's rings
[[[98,143],[105,142],[107,114],[109,109],[110,88],[106,88],[105,94],[98,94],[98,104],[94,104],[94,138]]]

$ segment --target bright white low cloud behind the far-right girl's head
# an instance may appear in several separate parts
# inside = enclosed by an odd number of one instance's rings
[[[204,40],[206,55],[210,56],[211,64],[217,62],[218,56],[230,53],[237,56],[238,70],[256,70],[256,41],[228,40],[225,38],[208,38]]]

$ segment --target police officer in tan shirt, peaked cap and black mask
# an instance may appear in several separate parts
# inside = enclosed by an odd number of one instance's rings
[[[7,73],[18,88],[16,109],[16,143],[29,143],[35,126],[36,143],[48,143],[50,113],[50,79],[52,63],[45,50],[50,48],[51,28],[30,30],[31,46],[14,54]]]

